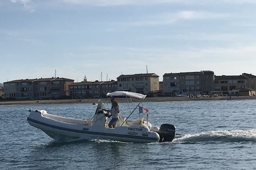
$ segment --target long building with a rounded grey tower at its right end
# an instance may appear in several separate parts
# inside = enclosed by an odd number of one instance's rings
[[[214,78],[214,72],[210,70],[165,73],[163,75],[163,94],[210,94],[214,89]]]

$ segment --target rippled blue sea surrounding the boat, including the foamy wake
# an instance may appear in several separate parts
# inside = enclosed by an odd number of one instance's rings
[[[176,124],[172,143],[58,142],[27,123],[29,109],[89,118],[95,106],[0,106],[0,169],[256,169],[256,100],[144,106],[152,124]]]

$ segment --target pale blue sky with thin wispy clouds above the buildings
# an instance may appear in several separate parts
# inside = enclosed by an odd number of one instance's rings
[[[4,0],[0,83],[212,70],[256,75],[254,0]]]

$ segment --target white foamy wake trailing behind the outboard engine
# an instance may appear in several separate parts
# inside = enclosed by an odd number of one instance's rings
[[[256,142],[256,129],[233,130],[233,131],[209,131],[199,134],[180,135],[173,140],[174,142],[198,143],[198,142]]]

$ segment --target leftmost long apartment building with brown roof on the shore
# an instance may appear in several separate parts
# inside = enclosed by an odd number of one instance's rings
[[[4,83],[4,97],[16,100],[55,99],[68,95],[68,78],[36,78]]]

